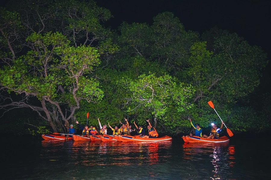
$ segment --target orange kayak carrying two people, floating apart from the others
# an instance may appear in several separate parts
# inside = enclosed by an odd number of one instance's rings
[[[222,136],[219,139],[207,139],[198,136],[183,136],[182,139],[187,143],[224,143],[229,141],[229,138]]]

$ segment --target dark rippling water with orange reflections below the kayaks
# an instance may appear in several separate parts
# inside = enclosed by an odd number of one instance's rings
[[[270,143],[264,140],[233,136],[229,143],[185,144],[181,138],[159,143],[6,138],[1,179],[269,179]]]

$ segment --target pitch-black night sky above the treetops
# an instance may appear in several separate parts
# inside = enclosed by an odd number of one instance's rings
[[[7,0],[0,0],[6,2]],[[109,9],[114,16],[107,26],[117,29],[123,21],[146,22],[158,13],[174,13],[186,30],[202,33],[217,26],[236,32],[251,45],[260,46],[271,59],[270,1],[263,0],[96,0],[97,5]],[[271,62],[263,72],[261,92],[271,91]]]

